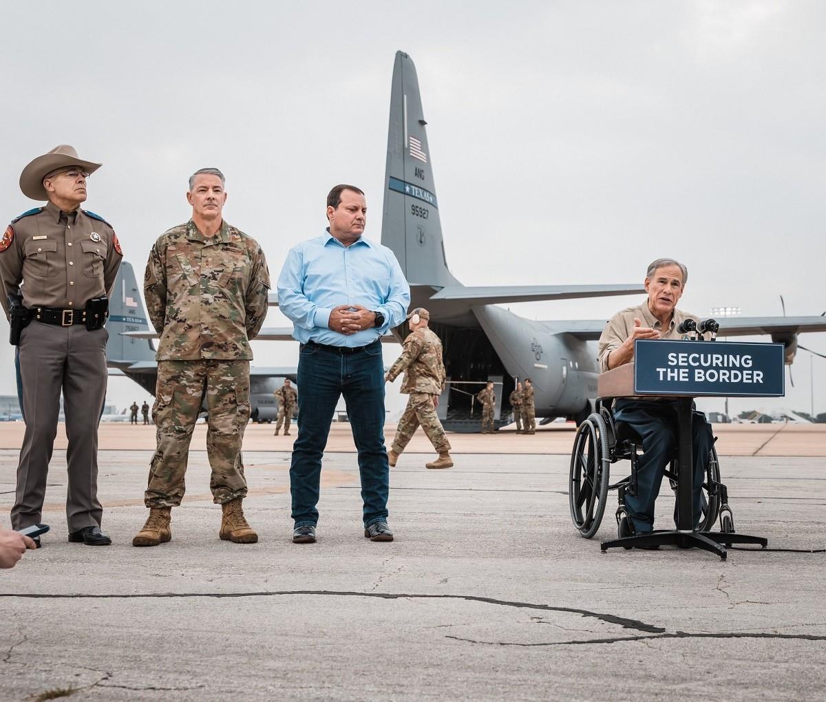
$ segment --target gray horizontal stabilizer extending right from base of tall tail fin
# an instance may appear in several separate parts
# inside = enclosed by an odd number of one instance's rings
[[[505,285],[443,287],[430,296],[431,300],[467,302],[468,305],[499,305],[507,302],[534,302],[539,300],[576,300],[579,297],[633,295],[645,292],[639,283],[634,285]]]

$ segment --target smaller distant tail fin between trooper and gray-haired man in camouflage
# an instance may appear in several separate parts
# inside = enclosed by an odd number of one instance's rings
[[[140,287],[135,280],[132,264],[121,263],[112,299],[109,301],[109,341],[106,355],[110,365],[135,363],[137,361],[154,361],[155,352],[148,339],[131,339],[124,336],[129,331],[149,331],[144,302],[140,297]]]

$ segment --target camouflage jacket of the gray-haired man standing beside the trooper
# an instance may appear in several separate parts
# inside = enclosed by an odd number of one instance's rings
[[[267,315],[267,261],[258,242],[226,222],[204,236],[192,220],[157,240],[146,264],[146,307],[159,361],[252,360],[249,339]]]

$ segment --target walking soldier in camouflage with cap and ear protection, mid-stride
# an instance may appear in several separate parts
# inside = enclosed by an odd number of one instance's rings
[[[439,458],[425,463],[428,468],[449,468],[453,466],[450,457],[450,442],[444,434],[442,423],[436,415],[439,395],[444,391],[444,362],[442,360],[442,342],[428,326],[430,312],[419,307],[407,315],[411,333],[407,335],[401,356],[393,363],[385,376],[385,382],[393,382],[399,373],[405,372],[401,392],[410,395],[404,414],[396,427],[396,437],[387,459],[391,466],[396,465],[399,454],[405,450],[416,428],[421,425]]]

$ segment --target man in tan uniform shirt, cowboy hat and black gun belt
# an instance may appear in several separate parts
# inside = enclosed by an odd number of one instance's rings
[[[112,226],[80,208],[89,174],[100,165],[79,159],[69,145],[31,161],[21,173],[21,191],[48,202],[12,220],[0,240],[0,301],[12,334],[19,332],[17,391],[26,420],[12,527],[41,520],[62,392],[69,541],[91,546],[112,543],[100,530],[97,424],[107,387],[106,296],[122,259]]]

